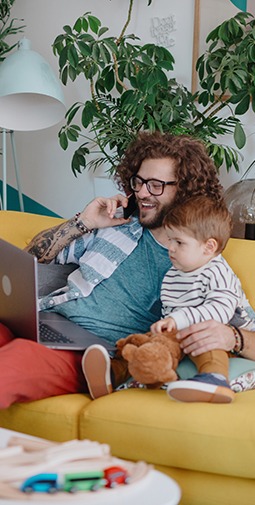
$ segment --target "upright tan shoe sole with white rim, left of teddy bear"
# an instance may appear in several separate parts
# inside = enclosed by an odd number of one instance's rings
[[[81,365],[93,400],[112,393],[111,360],[104,347],[96,344],[88,347]]]

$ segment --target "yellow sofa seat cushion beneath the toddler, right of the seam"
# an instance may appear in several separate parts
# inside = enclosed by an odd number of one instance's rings
[[[219,405],[179,403],[165,391],[129,389],[87,405],[80,435],[109,443],[121,458],[254,479],[254,418],[253,391]]]

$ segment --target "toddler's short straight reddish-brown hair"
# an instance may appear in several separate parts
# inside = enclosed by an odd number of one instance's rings
[[[174,205],[163,224],[168,228],[185,229],[199,242],[214,238],[218,243],[217,253],[225,248],[232,230],[231,215],[225,203],[207,196],[196,196]]]

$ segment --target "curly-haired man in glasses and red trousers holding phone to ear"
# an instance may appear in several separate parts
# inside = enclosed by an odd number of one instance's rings
[[[148,331],[161,317],[160,288],[170,267],[162,225],[166,212],[190,196],[223,198],[205,147],[187,136],[141,133],[117,167],[116,179],[133,202],[121,194],[96,198],[69,221],[39,233],[27,247],[39,262],[78,266],[61,294],[41,298],[41,310],[59,312],[111,343]],[[134,200],[134,215],[117,217],[117,209]],[[214,321],[199,324],[180,334],[184,352],[234,348],[230,328]],[[255,339],[243,333],[242,355],[255,359]],[[128,378],[126,363],[110,358],[101,346],[88,348],[82,358],[77,351],[15,339],[0,325],[0,408],[66,393],[89,391],[97,398]],[[38,370],[43,387],[35,380]]]

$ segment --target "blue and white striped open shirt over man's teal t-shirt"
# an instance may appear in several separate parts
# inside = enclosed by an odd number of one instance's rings
[[[102,228],[82,235],[56,257],[60,264],[74,263],[80,268],[68,277],[67,286],[39,300],[39,310],[47,310],[79,297],[87,297],[104,279],[109,278],[131,254],[143,233],[137,218],[129,224]]]

